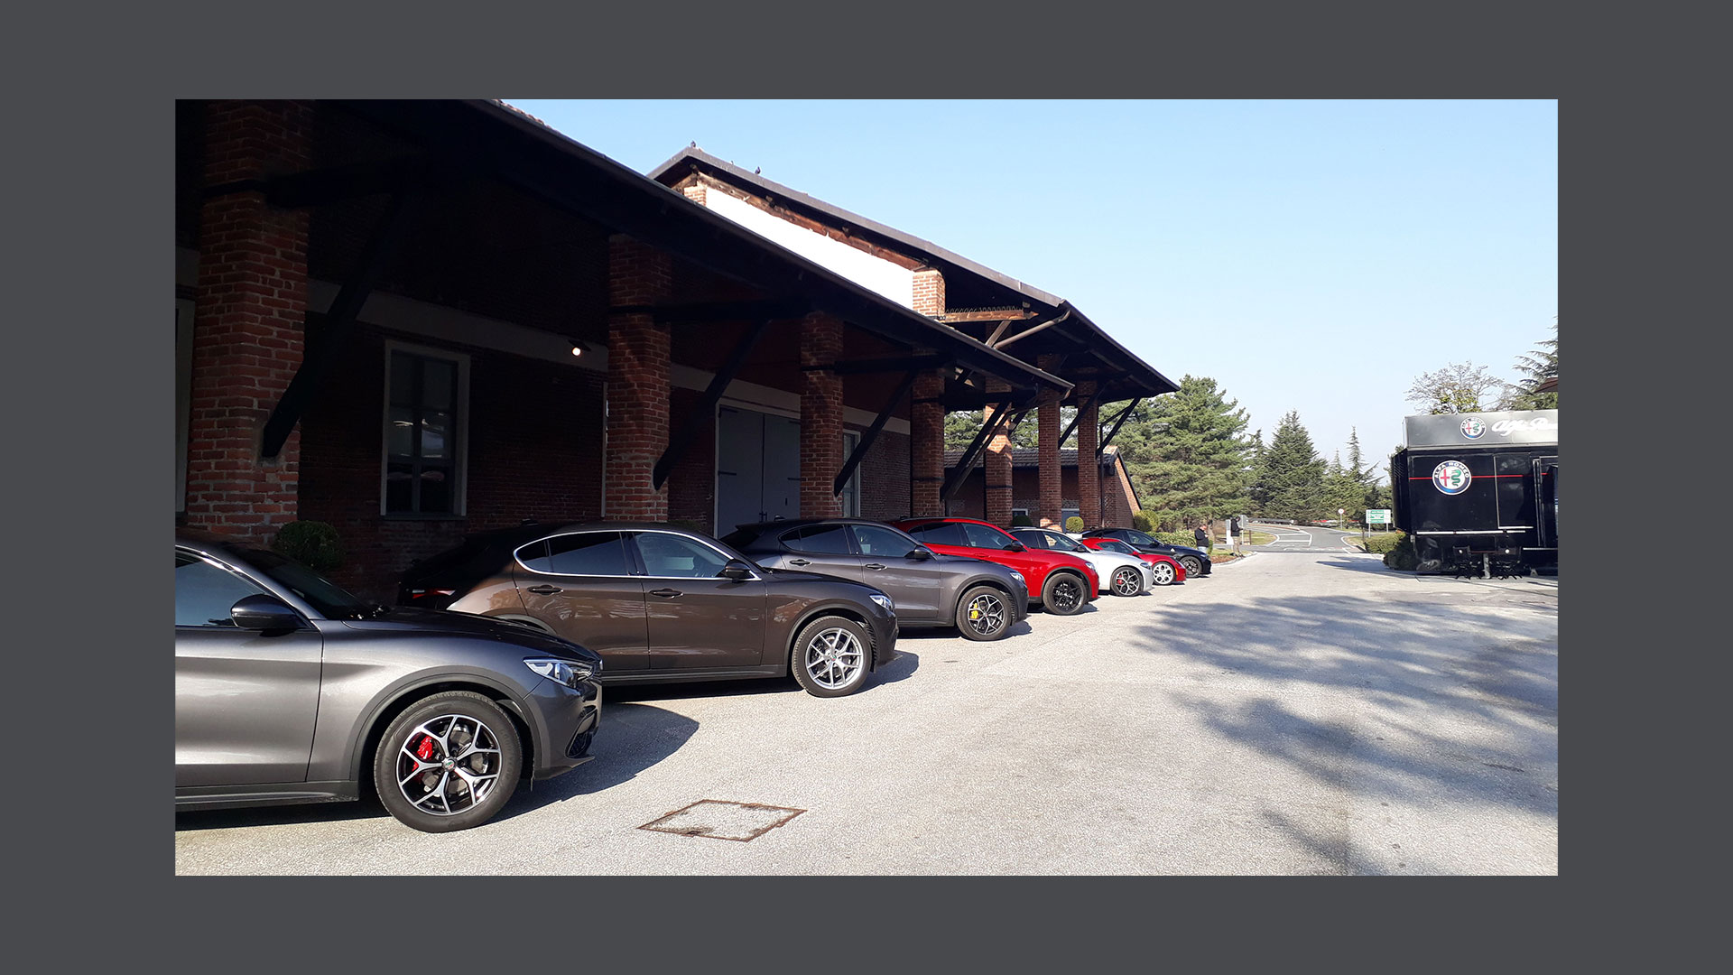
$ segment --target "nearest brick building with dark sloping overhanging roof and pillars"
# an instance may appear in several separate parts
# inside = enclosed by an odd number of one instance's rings
[[[499,102],[175,127],[177,522],[329,522],[366,595],[523,519],[939,514],[946,411],[1076,399]]]

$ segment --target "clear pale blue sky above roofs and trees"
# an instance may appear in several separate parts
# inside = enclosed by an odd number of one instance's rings
[[[1553,101],[508,99],[638,172],[688,142],[1061,295],[1265,441],[1402,439],[1451,363],[1558,314]]]

